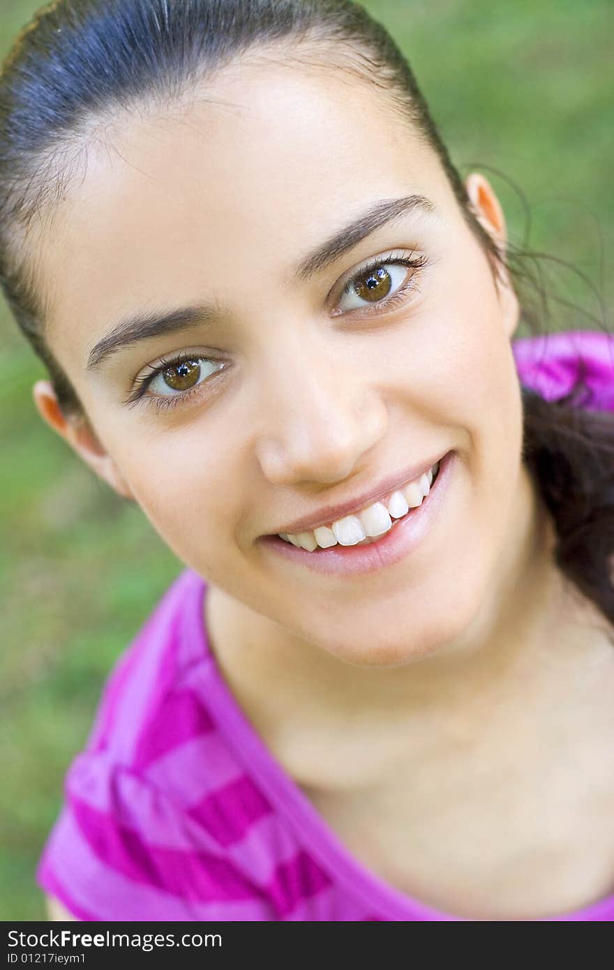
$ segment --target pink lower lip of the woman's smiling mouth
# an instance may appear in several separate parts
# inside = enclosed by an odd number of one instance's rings
[[[456,452],[449,451],[439,461],[433,488],[418,508],[407,512],[403,519],[396,519],[387,533],[367,545],[342,546],[338,543],[328,549],[307,552],[290,542],[284,542],[278,535],[263,535],[258,541],[266,549],[315,572],[359,576],[394,566],[412,553],[430,532],[448,494],[455,466]]]

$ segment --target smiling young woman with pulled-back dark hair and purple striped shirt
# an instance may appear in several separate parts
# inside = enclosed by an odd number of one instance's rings
[[[614,341],[514,336],[501,205],[393,40],[59,0],[0,103],[36,405],[186,566],[67,775],[51,915],[611,920]]]

